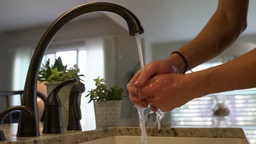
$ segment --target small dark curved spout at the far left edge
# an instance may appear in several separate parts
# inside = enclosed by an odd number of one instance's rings
[[[0,124],[3,124],[3,119],[4,119],[5,115],[7,115],[9,112],[12,112],[15,110],[24,111],[25,113],[27,113],[29,115],[34,115],[34,111],[32,109],[30,109],[30,107],[22,106],[22,105],[10,106],[0,113]],[[6,139],[4,136],[4,132],[3,132],[3,130],[0,130],[0,141],[5,141],[5,140]]]

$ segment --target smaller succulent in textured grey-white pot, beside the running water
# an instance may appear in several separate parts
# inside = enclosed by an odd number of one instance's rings
[[[94,101],[94,111],[97,127],[110,127],[118,123],[121,113],[121,100],[123,100],[123,88],[114,85],[108,89],[98,77],[94,80],[96,88],[88,91],[90,101]]]

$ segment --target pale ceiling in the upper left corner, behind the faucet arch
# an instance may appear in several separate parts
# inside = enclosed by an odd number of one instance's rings
[[[7,0],[0,2],[0,33],[48,27],[60,15],[86,2],[81,0]],[[106,16],[90,13],[75,21]]]

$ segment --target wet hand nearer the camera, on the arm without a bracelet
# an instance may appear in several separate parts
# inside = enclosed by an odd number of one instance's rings
[[[184,74],[156,75],[140,89],[139,95],[152,106],[153,111],[158,108],[168,112],[201,95],[190,81],[189,76]]]

